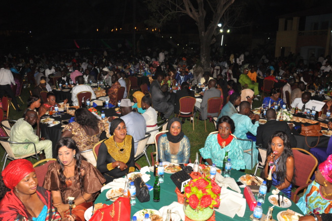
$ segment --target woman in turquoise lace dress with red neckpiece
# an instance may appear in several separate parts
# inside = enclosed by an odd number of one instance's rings
[[[200,149],[202,157],[210,166],[215,164],[223,167],[223,159],[228,152],[231,167],[236,170],[245,169],[241,143],[231,135],[232,131],[235,131],[234,121],[228,116],[221,117],[218,120],[218,133],[209,135],[205,146]]]

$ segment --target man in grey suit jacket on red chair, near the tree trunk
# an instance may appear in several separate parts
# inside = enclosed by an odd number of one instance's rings
[[[201,113],[202,120],[206,120],[208,118],[208,100],[210,98],[221,96],[221,91],[216,88],[217,81],[212,79],[209,80],[208,87],[209,89],[205,91],[202,102],[196,101],[195,109]],[[218,113],[215,114],[218,116]]]

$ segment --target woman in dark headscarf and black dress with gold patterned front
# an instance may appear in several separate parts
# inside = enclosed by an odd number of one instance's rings
[[[116,118],[110,127],[111,137],[99,147],[97,169],[106,183],[135,171],[134,139],[127,135],[124,121]]]

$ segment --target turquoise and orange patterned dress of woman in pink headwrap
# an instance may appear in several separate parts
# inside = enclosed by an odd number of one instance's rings
[[[325,199],[320,194],[320,185],[313,181],[307,188],[306,193],[296,203],[304,214],[322,214],[332,212],[332,200]]]

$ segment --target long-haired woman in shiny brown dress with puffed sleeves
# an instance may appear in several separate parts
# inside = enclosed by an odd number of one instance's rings
[[[53,205],[64,211],[60,213],[62,217],[70,213],[68,197],[74,197],[72,214],[75,220],[85,220],[84,212],[92,206],[105,179],[92,164],[85,161],[73,139],[61,138],[56,150],[57,162],[48,167],[43,186],[51,191]]]

